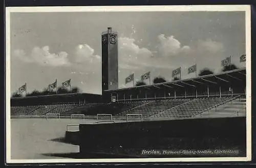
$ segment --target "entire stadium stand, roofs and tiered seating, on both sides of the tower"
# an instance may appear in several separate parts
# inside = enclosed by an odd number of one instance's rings
[[[242,106],[230,107],[233,111],[228,114],[236,116],[236,112],[245,107],[245,74],[246,70],[242,68],[172,82],[107,90],[103,97],[108,97],[108,102],[102,102],[101,95],[93,94],[12,98],[11,116],[43,118],[47,114],[59,114],[60,117],[81,114],[93,118],[97,114],[110,114],[114,119],[126,120],[129,114],[132,119],[140,119],[140,115],[143,120],[179,119],[202,116],[214,108],[217,113],[220,105],[229,102],[239,104],[238,100],[241,102],[242,99]]]

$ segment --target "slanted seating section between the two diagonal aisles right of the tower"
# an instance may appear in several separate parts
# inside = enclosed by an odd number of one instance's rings
[[[118,114],[118,116],[125,116],[126,114],[141,114],[143,117],[149,117],[176,105],[182,104],[188,100],[189,99],[169,99],[148,101],[147,103],[132,108],[131,110],[126,110],[123,113]]]

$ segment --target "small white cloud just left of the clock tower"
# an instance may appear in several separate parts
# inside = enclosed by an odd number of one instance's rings
[[[80,44],[76,47],[76,62],[97,62],[101,61],[101,57],[94,54],[94,49],[88,44]]]

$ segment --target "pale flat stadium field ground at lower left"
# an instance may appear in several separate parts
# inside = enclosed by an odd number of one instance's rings
[[[67,125],[84,122],[95,120],[11,119],[11,159],[58,159],[62,157],[50,154],[79,152],[79,146],[63,143],[61,139]]]

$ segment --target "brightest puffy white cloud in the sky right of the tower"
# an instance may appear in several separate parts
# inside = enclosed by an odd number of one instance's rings
[[[165,37],[164,34],[158,36],[159,44],[157,46],[159,54],[163,57],[178,55],[181,52],[190,50],[189,46],[181,46],[181,43],[174,36]]]

